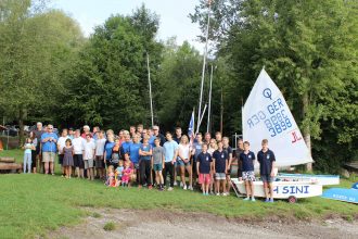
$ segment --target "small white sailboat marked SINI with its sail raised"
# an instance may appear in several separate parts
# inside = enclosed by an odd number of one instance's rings
[[[289,105],[265,68],[242,109],[242,124],[243,139],[250,142],[251,151],[257,153],[261,149],[261,140],[268,139],[269,148],[276,154],[276,166],[312,162]],[[258,164],[255,165],[257,167]],[[233,178],[232,185],[238,197],[246,194],[243,181]],[[298,198],[322,194],[322,184],[315,177],[281,178],[272,186],[273,198],[289,199],[292,203]],[[263,181],[254,181],[254,187],[255,197],[265,197]]]

